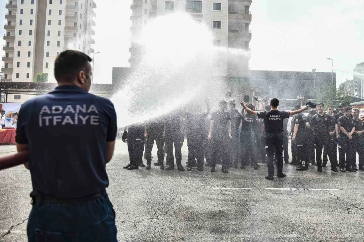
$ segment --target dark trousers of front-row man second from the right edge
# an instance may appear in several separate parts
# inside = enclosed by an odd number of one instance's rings
[[[356,157],[354,153],[354,142],[344,134],[339,134],[339,164],[340,168],[355,167]],[[345,159],[346,155],[346,159]]]

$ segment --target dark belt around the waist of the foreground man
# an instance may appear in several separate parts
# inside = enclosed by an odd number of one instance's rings
[[[78,198],[60,198],[60,197],[52,197],[52,196],[42,196],[42,195],[36,195],[31,197],[31,204],[39,204],[39,203],[76,203],[76,202],[83,202],[88,201],[93,198],[97,198],[103,195],[106,195],[106,190],[103,190],[98,193],[94,193],[91,195],[87,195],[84,197],[78,197]]]

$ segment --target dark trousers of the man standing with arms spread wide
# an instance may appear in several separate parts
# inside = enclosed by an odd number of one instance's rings
[[[277,158],[277,172],[283,172],[283,134],[266,133],[265,134],[265,151],[268,156],[268,175],[274,176],[274,155]]]

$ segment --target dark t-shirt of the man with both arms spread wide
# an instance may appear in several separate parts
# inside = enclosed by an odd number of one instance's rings
[[[258,112],[258,118],[264,119],[266,133],[282,133],[283,120],[289,117],[289,112],[271,110],[269,112]]]

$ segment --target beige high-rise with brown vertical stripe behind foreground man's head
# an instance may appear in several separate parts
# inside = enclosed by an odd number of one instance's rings
[[[55,82],[53,65],[60,52],[94,53],[95,8],[93,0],[10,0],[1,81],[32,82],[44,72]]]

